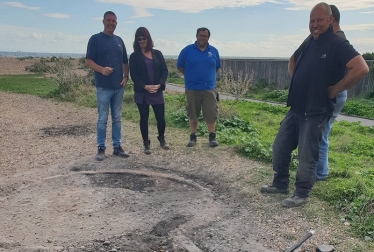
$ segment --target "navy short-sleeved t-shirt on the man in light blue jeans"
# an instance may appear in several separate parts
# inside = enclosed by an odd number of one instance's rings
[[[109,76],[95,72],[96,87],[122,88],[123,64],[128,64],[128,58],[125,44],[119,36],[109,36],[103,32],[92,35],[88,41],[86,59],[93,60],[99,66],[113,68]]]

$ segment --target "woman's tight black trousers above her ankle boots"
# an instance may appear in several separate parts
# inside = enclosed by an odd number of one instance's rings
[[[142,134],[143,141],[149,140],[148,138],[148,118],[149,118],[149,104],[139,104],[140,114],[140,132]],[[165,104],[153,104],[153,112],[157,121],[157,130],[160,137],[164,137],[165,134]]]

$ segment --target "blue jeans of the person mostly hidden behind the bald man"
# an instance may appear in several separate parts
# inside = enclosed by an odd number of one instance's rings
[[[345,101],[347,100],[347,91],[340,92],[336,96],[336,104],[334,112],[330,120],[326,123],[323,130],[322,139],[319,142],[319,159],[317,162],[316,178],[325,179],[329,173],[328,150],[329,150],[329,133],[332,128],[332,123],[342,110]]]

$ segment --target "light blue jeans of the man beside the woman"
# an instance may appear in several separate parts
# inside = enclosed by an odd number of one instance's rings
[[[98,119],[96,125],[97,145],[105,148],[106,125],[109,108],[112,115],[113,148],[121,145],[121,118],[124,88],[96,88]]]

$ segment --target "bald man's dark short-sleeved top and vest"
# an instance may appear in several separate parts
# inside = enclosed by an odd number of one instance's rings
[[[348,40],[333,33],[332,27],[317,40],[309,36],[295,51],[287,106],[305,115],[330,113],[335,99],[327,88],[345,75],[346,64],[359,55]]]

